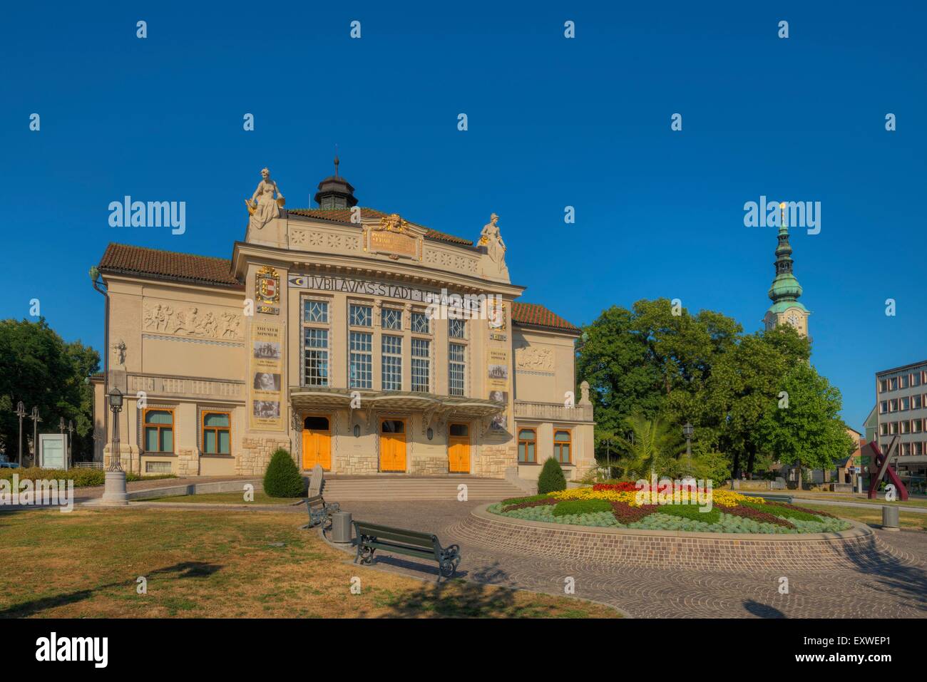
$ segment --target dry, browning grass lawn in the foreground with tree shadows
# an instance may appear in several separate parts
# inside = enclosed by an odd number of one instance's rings
[[[2,512],[0,617],[619,616],[578,599],[355,566],[302,522],[292,512],[150,507]],[[139,576],[147,594],[136,593]],[[351,594],[352,576],[361,594]]]

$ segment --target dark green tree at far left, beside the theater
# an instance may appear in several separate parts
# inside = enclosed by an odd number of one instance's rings
[[[0,320],[0,450],[10,460],[19,457],[19,400],[27,412],[38,407],[39,433],[57,433],[58,422],[74,423],[75,460],[92,452],[92,387],[88,377],[98,371],[99,354],[80,341],[66,343],[38,322]],[[23,420],[23,433],[32,436],[32,420]],[[23,450],[26,450],[23,438]]]

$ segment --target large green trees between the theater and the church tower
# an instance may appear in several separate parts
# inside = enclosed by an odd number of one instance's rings
[[[640,455],[628,455],[640,450],[628,444],[632,434],[635,440],[640,437],[645,424],[667,430],[672,440],[682,424],[692,423],[691,473],[716,480],[782,458],[800,458],[774,424],[794,425],[790,420],[801,419],[807,433],[844,429],[838,417],[840,392],[810,367],[809,342],[791,326],[744,335],[738,322],[721,313],[692,315],[661,298],[638,301],[630,310],[606,309],[583,331],[577,370],[578,378],[590,383],[597,453],[604,460],[606,440],[623,449],[626,475],[644,462]],[[777,416],[781,391],[790,385],[808,404],[801,415]],[[657,434],[651,436],[655,442]],[[845,456],[831,436],[821,436],[815,447],[820,454],[816,468]],[[668,460],[656,453],[647,458],[667,475],[682,472],[687,463],[679,452]]]

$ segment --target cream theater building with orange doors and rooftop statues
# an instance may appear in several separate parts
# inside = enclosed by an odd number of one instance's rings
[[[259,475],[276,448],[330,475],[594,466],[580,332],[518,300],[495,215],[475,244],[357,206],[337,165],[318,208],[284,208],[262,172],[231,259],[107,247],[98,459],[118,387],[121,464],[143,474]]]

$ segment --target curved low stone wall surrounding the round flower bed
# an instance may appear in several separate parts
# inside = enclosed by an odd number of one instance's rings
[[[476,507],[458,531],[484,546],[578,562],[712,571],[827,571],[892,562],[863,524],[839,533],[722,534],[525,521]]]

